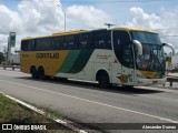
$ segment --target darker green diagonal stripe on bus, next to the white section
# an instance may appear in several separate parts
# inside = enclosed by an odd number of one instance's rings
[[[93,52],[93,50],[82,50],[80,52],[80,54],[78,55],[78,59],[76,60],[75,64],[70,69],[70,71],[68,71],[68,73],[80,72],[86,66],[86,64],[89,61],[92,52]]]

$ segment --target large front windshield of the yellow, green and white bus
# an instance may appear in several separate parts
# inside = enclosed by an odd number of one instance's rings
[[[159,35],[157,33],[132,31],[131,37],[142,44],[142,55],[136,55],[137,69],[165,71],[166,60]]]

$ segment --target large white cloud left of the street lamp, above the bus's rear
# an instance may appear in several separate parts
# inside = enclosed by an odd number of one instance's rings
[[[49,34],[61,30],[62,12],[57,3],[39,2],[38,0],[22,0],[18,10],[12,11],[0,4],[0,51],[7,47],[10,31],[17,32],[17,48],[24,37]]]

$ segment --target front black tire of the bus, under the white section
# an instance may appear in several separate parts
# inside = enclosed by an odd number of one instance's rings
[[[102,89],[107,89],[110,86],[109,75],[106,71],[99,71],[97,73],[97,81],[99,86]]]

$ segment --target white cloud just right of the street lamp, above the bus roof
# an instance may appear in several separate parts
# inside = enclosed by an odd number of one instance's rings
[[[103,27],[105,22],[112,22],[111,17],[92,6],[72,6],[67,9],[67,16],[91,28]]]

